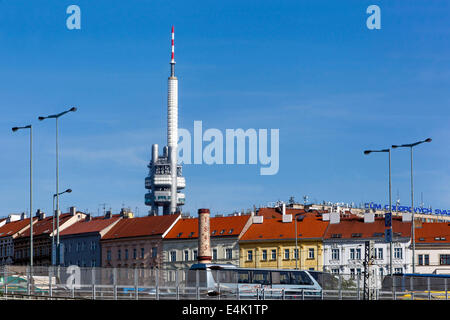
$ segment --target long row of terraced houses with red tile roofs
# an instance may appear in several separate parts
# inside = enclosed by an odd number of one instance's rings
[[[187,269],[197,261],[198,219],[180,214],[133,217],[107,212],[91,217],[74,207],[59,217],[61,263],[80,267]],[[0,220],[0,264],[27,265],[30,218]],[[210,218],[213,263],[249,268],[300,268],[340,274],[364,270],[365,243],[374,243],[380,275],[412,270],[411,221],[393,217],[392,250],[384,218],[373,213],[260,208],[254,214]],[[34,265],[52,263],[53,216],[33,217]],[[419,273],[450,273],[450,224],[416,222],[415,264]]]

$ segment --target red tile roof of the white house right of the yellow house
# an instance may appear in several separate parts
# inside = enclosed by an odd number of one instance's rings
[[[328,226],[324,239],[384,238],[384,230],[384,218],[382,217],[375,217],[372,223],[364,223],[364,218],[357,216],[341,217],[339,223]],[[401,218],[392,217],[392,231],[394,236],[400,233],[401,237],[410,237],[411,222],[402,222]]]

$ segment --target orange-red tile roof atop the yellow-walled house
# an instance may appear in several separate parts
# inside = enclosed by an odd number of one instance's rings
[[[287,210],[286,210],[287,212]],[[328,226],[328,221],[322,221],[322,217],[316,213],[305,213],[300,217],[302,221],[297,223],[297,238],[311,239],[322,238]],[[301,218],[300,218],[301,219]],[[254,223],[242,236],[241,240],[283,240],[295,239],[295,218],[292,222],[283,222],[282,219],[263,219],[263,223]]]

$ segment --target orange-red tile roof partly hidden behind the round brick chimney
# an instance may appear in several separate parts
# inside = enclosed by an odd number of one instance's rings
[[[211,237],[238,236],[248,219],[250,219],[250,215],[211,217],[209,222]],[[175,226],[164,237],[164,239],[191,238],[198,238],[198,218],[178,220]]]

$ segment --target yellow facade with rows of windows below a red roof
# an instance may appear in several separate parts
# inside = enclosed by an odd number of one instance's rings
[[[298,240],[298,258],[295,256],[295,240],[279,241],[240,241],[240,266],[244,268],[270,268],[270,269],[295,269],[296,263],[299,269],[318,270],[323,269],[323,245],[321,239]],[[264,257],[264,250],[267,259]],[[272,250],[276,250],[273,259]],[[288,256],[286,256],[286,251]],[[313,253],[309,256],[309,252]],[[248,253],[252,254],[249,260]]]

